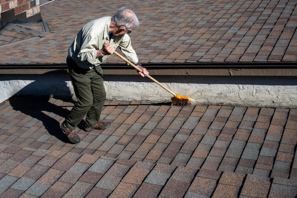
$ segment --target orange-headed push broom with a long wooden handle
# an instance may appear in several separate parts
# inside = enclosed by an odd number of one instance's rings
[[[117,56],[119,56],[121,59],[123,59],[126,63],[130,64],[135,69],[137,69],[139,72],[142,72],[141,69],[139,69],[136,65],[134,65],[132,62],[130,62],[127,58],[125,58],[121,54],[117,53],[116,51],[114,51],[114,53]],[[165,87],[164,85],[162,85],[161,83],[159,83],[156,79],[154,79],[150,75],[147,75],[147,77],[149,77],[151,80],[153,80],[155,83],[157,83],[158,85],[160,85],[162,88],[164,88],[166,91],[168,91],[170,94],[172,94],[174,96],[174,97],[171,98],[171,100],[172,100],[171,105],[178,105],[178,104],[181,104],[181,105],[194,105],[194,104],[196,104],[196,102],[195,102],[194,99],[192,99],[192,98],[190,98],[188,96],[180,96],[178,94],[175,94],[174,92],[170,91],[167,87]]]

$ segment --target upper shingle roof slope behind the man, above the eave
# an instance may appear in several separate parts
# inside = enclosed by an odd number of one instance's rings
[[[296,0],[88,2],[42,5],[51,34],[1,47],[0,64],[65,63],[67,49],[84,24],[123,6],[140,19],[131,38],[143,63],[297,61]],[[122,62],[117,56],[108,61],[117,62]]]

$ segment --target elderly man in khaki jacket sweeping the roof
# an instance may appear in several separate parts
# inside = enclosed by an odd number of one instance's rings
[[[99,120],[106,99],[100,64],[118,46],[129,61],[142,70],[142,73],[138,72],[142,77],[149,74],[138,62],[128,36],[137,26],[139,22],[135,13],[123,7],[113,17],[102,17],[87,23],[69,47],[66,62],[78,101],[61,124],[61,129],[71,142],[80,142],[75,129],[85,115],[87,132],[110,126],[110,122]]]

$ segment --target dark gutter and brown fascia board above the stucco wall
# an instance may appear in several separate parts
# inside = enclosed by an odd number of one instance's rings
[[[150,75],[194,76],[297,76],[296,63],[189,63],[189,64],[143,64]],[[126,64],[102,64],[104,75],[137,75]],[[0,74],[47,74],[65,73],[66,64],[0,65]]]

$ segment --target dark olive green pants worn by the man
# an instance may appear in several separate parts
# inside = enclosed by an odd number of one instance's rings
[[[65,118],[65,124],[74,130],[86,115],[86,125],[94,126],[100,119],[106,100],[100,66],[83,69],[69,56],[66,60],[77,102]]]

